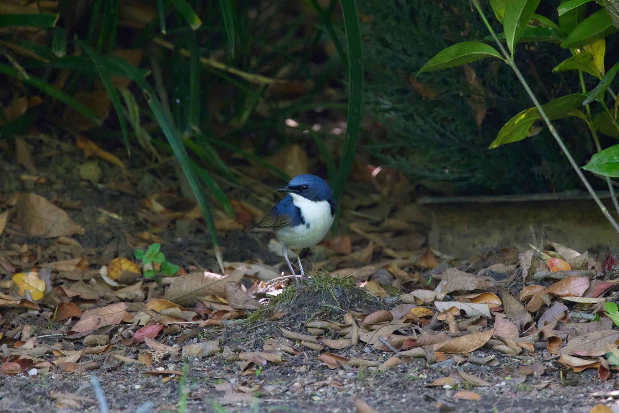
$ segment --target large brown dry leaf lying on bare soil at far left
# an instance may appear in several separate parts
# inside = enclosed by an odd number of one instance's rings
[[[32,237],[56,238],[85,233],[66,212],[37,194],[20,194],[16,209],[15,223]]]

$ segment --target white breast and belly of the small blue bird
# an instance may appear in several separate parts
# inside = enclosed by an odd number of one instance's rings
[[[327,201],[310,201],[298,194],[290,194],[293,204],[301,211],[305,224],[287,225],[275,230],[275,236],[288,248],[298,250],[318,244],[333,224],[331,205]]]

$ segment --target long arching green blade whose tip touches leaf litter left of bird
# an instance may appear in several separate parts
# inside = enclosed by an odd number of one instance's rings
[[[183,169],[187,181],[189,182],[191,191],[196,197],[196,201],[200,206],[200,209],[202,210],[204,220],[206,221],[206,225],[209,230],[210,239],[213,243],[213,248],[215,250],[215,257],[217,258],[217,262],[219,263],[219,266],[223,273],[222,253],[219,248],[217,232],[215,232],[215,222],[213,219],[213,215],[210,211],[210,206],[207,202],[206,196],[204,195],[202,186],[200,185],[200,182],[196,176],[193,165],[191,164],[191,160],[187,155],[187,151],[183,146],[183,142],[181,141],[181,137],[179,136],[178,131],[176,131],[176,129],[174,128],[167,111],[165,111],[162,103],[158,100],[154,90],[141,76],[139,71],[136,71],[136,67],[132,66],[131,64],[129,64],[128,61],[119,58],[118,56],[108,56],[107,59],[115,63],[121,69],[123,69],[123,71],[125,71],[126,74],[131,77],[134,82],[136,82],[137,86],[142,90],[142,93],[144,93],[144,97],[149,103],[150,109],[153,111],[153,114],[157,119],[157,122],[159,123],[163,134],[167,138],[168,143],[172,148],[172,152],[176,156],[176,159],[178,159],[178,163]]]

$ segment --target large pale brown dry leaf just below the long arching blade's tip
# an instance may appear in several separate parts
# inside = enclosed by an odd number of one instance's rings
[[[221,276],[214,272],[191,272],[173,277],[170,287],[163,298],[180,305],[194,305],[200,297],[206,295],[225,296],[227,282],[239,282],[243,278],[243,270],[236,269],[228,276]]]

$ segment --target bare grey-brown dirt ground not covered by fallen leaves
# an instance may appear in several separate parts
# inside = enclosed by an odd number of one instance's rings
[[[139,218],[141,202],[152,191],[167,188],[165,178],[162,178],[165,173],[158,171],[141,176],[134,173],[126,180],[131,191],[126,191],[76,178],[76,165],[87,162],[87,159],[77,150],[71,156],[74,162],[67,162],[66,157],[51,157],[41,162],[40,173],[46,178],[43,184],[20,179],[21,167],[2,163],[1,188],[5,194],[14,191],[37,193],[46,199],[56,199],[59,204],[79,201],[79,207],[67,209],[67,212],[85,229],[84,235],[74,238],[80,243],[81,253],[89,256],[91,269],[109,263],[116,256],[131,258],[134,248],[132,234],[147,228],[146,221]],[[118,168],[102,161],[97,163],[106,177],[105,183],[124,180]],[[105,214],[102,211],[106,211]],[[212,245],[203,222],[186,232],[178,226],[168,225],[160,228],[157,235],[162,238],[162,251],[173,263],[185,267],[199,264],[212,271],[217,269],[214,256],[209,253]],[[269,235],[259,238],[262,245],[241,230],[230,230],[221,235],[225,261],[279,263],[284,268],[280,258],[264,248]],[[53,244],[51,240],[26,237],[17,232],[5,232],[1,237],[2,248],[27,244],[40,246],[45,251]],[[41,263],[54,258],[43,256]],[[374,254],[371,262],[381,259],[380,254]],[[352,293],[355,294],[367,295],[366,292]],[[277,307],[282,313],[277,320],[268,321],[267,314],[253,322],[229,320],[223,323],[223,327],[181,328],[160,338],[160,342],[178,347],[181,343],[219,341],[220,346],[236,352],[258,352],[265,340],[282,337],[280,328],[306,334],[304,324],[309,319],[341,319],[342,313],[332,311],[334,306],[362,306],[361,310],[368,313],[381,308],[390,310],[395,306],[387,299],[358,297],[343,305],[338,300],[333,302],[333,296],[332,290],[322,295],[302,290],[287,305]],[[58,342],[58,337],[53,337],[54,332],[66,327],[63,322],[42,320],[38,314],[22,313],[22,318],[35,326],[35,334],[41,337],[41,341],[50,345]],[[67,341],[67,346],[79,349],[79,342],[61,340]],[[7,346],[11,346],[10,342],[2,339],[2,343],[4,355],[9,355]],[[301,346],[297,349],[300,354],[289,355],[286,362],[268,363],[257,372],[250,371],[246,375],[243,375],[240,361],[228,361],[224,354],[186,359],[164,356],[154,360],[150,367],[137,362],[106,363],[109,354],[85,355],[82,364],[95,362],[96,368],[85,372],[51,370],[33,376],[0,375],[0,411],[98,412],[100,407],[90,384],[91,374],[98,377],[112,412],[136,412],[144,407],[145,402],[152,403],[147,411],[160,412],[176,412],[184,404],[187,412],[363,412],[362,407],[355,405],[355,398],[379,412],[589,412],[600,402],[613,406],[612,398],[595,398],[593,393],[618,388],[615,373],[606,381],[600,381],[595,369],[572,373],[557,362],[558,356],[545,349],[521,356],[505,355],[495,350],[475,350],[469,354],[480,359],[494,356],[498,363],[493,367],[466,360],[456,365],[453,359],[450,359],[451,364],[428,365],[423,358],[402,358],[396,368],[386,371],[365,367],[331,369],[316,359],[320,352]],[[125,346],[116,339],[111,351],[137,361],[140,350],[140,346]],[[332,352],[342,357],[363,357],[379,362],[393,355],[362,343]],[[517,373],[523,365],[532,366],[534,363],[542,365],[541,369],[536,369],[539,375]],[[180,378],[178,375],[146,373],[157,368],[183,372],[184,375]],[[475,387],[465,381],[426,386],[458,370],[478,376],[490,386]],[[474,391],[480,399],[456,399],[454,394],[458,391]],[[614,409],[619,411],[619,404]]]

